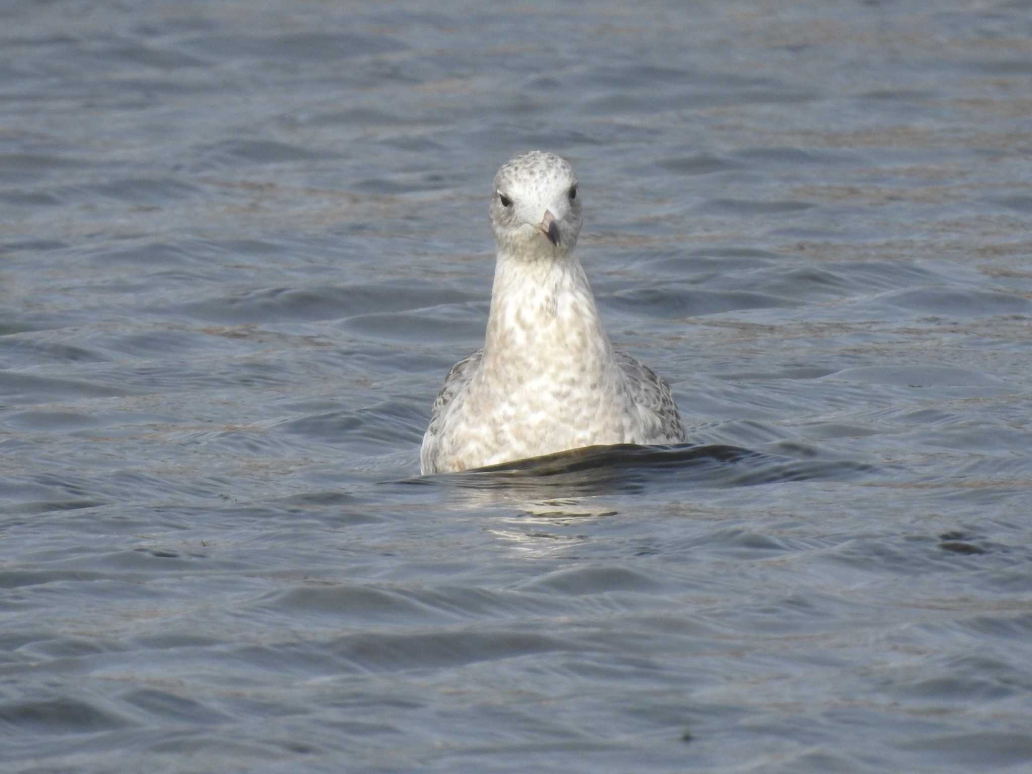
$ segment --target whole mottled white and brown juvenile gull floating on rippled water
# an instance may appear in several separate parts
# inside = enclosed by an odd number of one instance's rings
[[[423,474],[465,471],[596,444],[674,444],[670,385],[609,342],[574,255],[577,176],[534,151],[494,175],[497,245],[484,348],[459,360],[433,402]]]

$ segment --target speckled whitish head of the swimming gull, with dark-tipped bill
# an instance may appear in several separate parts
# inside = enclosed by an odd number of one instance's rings
[[[566,256],[580,233],[580,203],[577,175],[566,159],[531,151],[507,161],[491,192],[498,251],[527,260]]]

